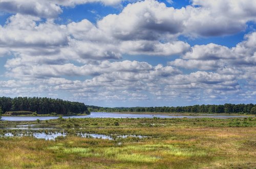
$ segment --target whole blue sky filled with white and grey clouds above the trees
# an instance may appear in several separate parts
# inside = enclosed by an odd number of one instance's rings
[[[0,0],[0,96],[256,104],[256,1]]]

